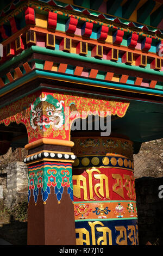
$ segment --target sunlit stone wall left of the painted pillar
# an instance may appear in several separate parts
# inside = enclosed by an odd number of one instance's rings
[[[12,162],[0,170],[0,196],[4,199],[5,206],[10,208],[28,191],[28,168],[23,162]]]

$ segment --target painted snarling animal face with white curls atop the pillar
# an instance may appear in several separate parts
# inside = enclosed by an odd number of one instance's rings
[[[64,124],[64,114],[62,112],[62,102],[57,102],[58,108],[45,99],[38,102],[36,106],[31,106],[30,124],[35,130],[38,127],[40,133],[51,133],[59,129]]]

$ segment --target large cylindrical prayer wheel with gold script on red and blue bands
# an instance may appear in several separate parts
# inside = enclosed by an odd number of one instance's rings
[[[137,245],[133,146],[126,139],[74,137],[77,245]]]

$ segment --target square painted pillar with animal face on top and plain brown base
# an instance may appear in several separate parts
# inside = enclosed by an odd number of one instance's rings
[[[71,153],[74,143],[57,136],[65,133],[64,111],[64,101],[48,93],[38,95],[30,106],[31,137],[24,159],[29,170],[28,245],[76,245],[72,190],[75,156]]]

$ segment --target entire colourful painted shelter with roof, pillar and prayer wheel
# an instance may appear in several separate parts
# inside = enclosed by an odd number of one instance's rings
[[[28,245],[139,244],[133,154],[163,137],[162,9],[1,1],[0,154],[28,150]]]

